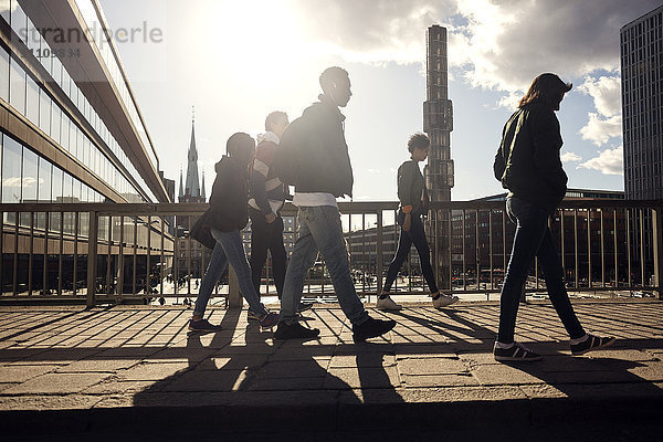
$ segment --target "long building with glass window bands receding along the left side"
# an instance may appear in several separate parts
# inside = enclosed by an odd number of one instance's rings
[[[170,201],[113,38],[97,0],[0,1],[2,203]],[[78,262],[78,271],[85,270],[83,253],[69,251],[75,250],[77,240],[86,240],[87,225],[77,215],[67,217],[64,221],[53,217],[49,223],[38,213],[34,225],[23,214],[17,219],[6,212],[2,218],[3,234],[12,225],[19,235],[24,234],[20,228],[33,230],[30,251],[21,245],[28,241],[21,240],[13,252],[20,266],[32,263],[34,272],[49,272],[43,280],[36,273],[32,278],[44,281],[45,292],[51,292],[51,284],[60,292],[63,278],[77,278],[71,274],[72,262],[73,269]],[[119,238],[119,224],[101,218],[99,239]],[[136,234],[143,254],[146,225]],[[64,243],[61,277],[51,272],[52,252],[44,249],[43,239],[54,235]],[[25,272],[14,271],[12,281],[13,256],[7,255],[8,249],[2,252],[3,291],[9,286],[21,292]],[[123,265],[115,253],[108,253],[113,272]],[[145,260],[138,261],[145,272]]]

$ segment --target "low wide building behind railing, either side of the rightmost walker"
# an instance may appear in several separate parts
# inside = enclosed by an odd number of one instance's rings
[[[504,192],[474,201],[506,201],[506,197],[507,193]],[[568,189],[565,200],[576,199],[623,200],[624,192]],[[600,235],[601,222],[603,223],[603,245],[601,245]],[[615,261],[615,241],[619,263],[617,266],[618,281],[628,280],[625,222],[624,211],[613,212],[611,210],[602,213],[587,210],[558,210],[550,218],[550,232],[557,244],[558,253],[562,256],[567,283],[572,285],[577,280],[578,285],[582,287],[602,281],[602,278],[608,283],[614,281],[615,266],[612,263]],[[613,236],[614,231],[619,232],[618,238]],[[478,214],[475,210],[454,210],[451,233],[454,286],[476,284],[477,274],[482,282],[490,282],[491,267],[494,271],[494,282],[501,282],[506,264],[508,264],[514,232],[515,224],[507,219],[503,210],[493,212],[483,210]],[[562,232],[564,242],[561,241]],[[603,257],[601,257],[601,253],[603,253]]]

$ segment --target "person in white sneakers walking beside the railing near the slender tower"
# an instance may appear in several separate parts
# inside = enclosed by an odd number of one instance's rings
[[[425,160],[429,155],[431,140],[424,134],[414,134],[408,141],[408,150],[412,156],[409,161],[403,162],[398,168],[398,199],[401,207],[398,212],[398,223],[401,225],[400,238],[398,241],[398,250],[396,256],[389,264],[387,271],[387,280],[380,297],[378,298],[377,307],[382,311],[400,311],[402,306],[396,304],[389,296],[391,284],[396,281],[396,276],[408,257],[412,243],[419,252],[419,261],[421,262],[421,273],[431,291],[433,297],[433,306],[442,308],[459,301],[456,296],[441,294],[435,284],[435,276],[431,266],[431,251],[425,239],[423,222],[421,217],[428,210],[428,192],[419,162]]]

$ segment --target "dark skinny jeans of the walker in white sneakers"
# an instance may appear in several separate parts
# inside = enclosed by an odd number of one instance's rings
[[[425,278],[431,293],[436,293],[438,284],[435,284],[435,275],[433,273],[433,267],[431,266],[431,250],[429,249],[428,241],[425,239],[425,231],[423,230],[421,215],[412,214],[412,224],[409,232],[406,232],[402,229],[404,219],[406,214],[402,211],[399,211],[398,223],[401,225],[401,232],[398,240],[398,249],[396,250],[393,260],[391,260],[391,263],[389,264],[387,280],[385,281],[385,287],[382,290],[383,292],[389,292],[391,290],[391,284],[393,284],[393,281],[396,281],[396,276],[398,275],[400,267],[408,257],[410,246],[412,243],[414,243],[414,248],[417,248],[417,252],[419,252],[421,273],[423,273],[423,277]]]

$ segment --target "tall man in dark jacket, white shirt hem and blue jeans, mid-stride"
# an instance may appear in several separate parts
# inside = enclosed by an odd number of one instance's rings
[[[301,118],[293,122],[281,139],[282,149],[296,150],[292,183],[293,203],[299,208],[299,238],[285,274],[281,302],[282,320],[274,335],[277,339],[308,338],[319,334],[297,323],[296,311],[304,290],[304,277],[322,252],[338,303],[352,323],[356,341],[380,336],[396,326],[393,320],[368,316],[357,296],[340,213],[336,198],[352,194],[352,167],[345,139],[345,107],[352,93],[348,73],[329,67],[319,78],[323,94]]]

